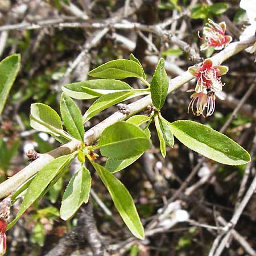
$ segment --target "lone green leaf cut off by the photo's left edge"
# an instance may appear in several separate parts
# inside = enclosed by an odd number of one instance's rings
[[[20,66],[20,55],[13,54],[0,62],[0,115]]]

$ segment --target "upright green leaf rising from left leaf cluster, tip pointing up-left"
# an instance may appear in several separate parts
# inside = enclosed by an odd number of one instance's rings
[[[60,113],[69,133],[84,142],[84,125],[82,115],[75,102],[65,93],[60,98]]]

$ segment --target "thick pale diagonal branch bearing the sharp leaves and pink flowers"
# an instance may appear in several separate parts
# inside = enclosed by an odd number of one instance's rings
[[[243,49],[246,49],[247,47],[251,46],[251,44],[253,44],[255,40],[256,40],[255,36],[251,36],[247,40],[230,44],[223,51],[217,53],[211,58],[211,60],[213,61],[213,65],[220,65],[223,61],[225,61],[226,59],[229,59],[229,57],[236,55],[238,52],[241,52],[243,51]],[[171,79],[170,86],[168,88],[168,94],[180,88],[180,86],[182,86],[183,84],[185,84],[186,82],[192,79],[193,79],[193,76],[188,71],[184,72],[183,75],[180,75],[175,77],[174,79]],[[122,114],[119,111],[115,112],[114,114],[110,115],[110,117],[106,118],[104,121],[98,123],[96,126],[86,131],[85,137],[84,137],[85,143],[92,144],[100,137],[102,131],[106,127],[108,127],[109,125],[112,125],[115,122],[125,120],[126,118],[137,114],[138,112],[145,109],[147,105],[151,105],[151,104],[152,104],[151,96],[149,95],[127,105],[127,107],[130,110],[129,115]],[[42,167],[44,167],[51,160],[61,155],[70,154],[71,152],[76,151],[79,146],[80,146],[79,141],[71,141],[59,148],[56,148],[55,150],[52,150],[51,152],[48,152],[47,154],[43,154],[42,156],[40,156],[40,158],[36,159],[34,162],[29,164],[23,170],[18,172],[18,174],[15,174],[14,176],[10,177],[10,179],[0,184],[0,199],[3,197],[9,196],[10,193],[15,191],[15,189],[17,189],[30,177],[34,176],[36,172],[38,172]]]

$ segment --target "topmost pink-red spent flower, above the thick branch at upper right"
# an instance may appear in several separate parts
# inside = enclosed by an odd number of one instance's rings
[[[208,19],[203,30],[203,38],[199,35],[200,39],[204,39],[206,42],[201,45],[201,51],[213,47],[214,49],[220,50],[226,47],[231,41],[232,37],[225,35],[226,23],[221,22],[219,24]]]

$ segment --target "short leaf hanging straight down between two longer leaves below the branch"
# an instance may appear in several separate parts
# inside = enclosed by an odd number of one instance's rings
[[[73,175],[65,189],[61,202],[60,217],[63,220],[71,218],[82,203],[88,202],[91,180],[90,172],[83,166]]]

